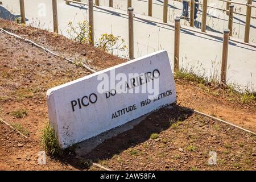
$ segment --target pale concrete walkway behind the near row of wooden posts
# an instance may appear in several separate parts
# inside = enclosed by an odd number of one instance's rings
[[[133,1],[134,2],[134,1]],[[136,2],[136,1],[135,1]],[[172,2],[172,1],[171,1]],[[181,3],[179,3],[181,5]],[[127,6],[127,5],[126,5]],[[109,7],[119,13],[127,13]],[[137,7],[136,7],[137,8]],[[25,1],[27,24],[52,31],[51,0]],[[1,16],[16,18],[19,15],[18,0],[3,0],[0,6]],[[154,9],[153,9],[154,11]],[[119,35],[128,43],[128,19],[126,15],[112,13],[94,8],[95,38],[103,33]],[[136,14],[138,18],[160,22],[158,18],[150,18]],[[68,22],[88,20],[88,7],[77,4],[65,5],[58,1],[58,17],[60,34],[67,36]],[[166,49],[173,64],[174,57],[174,24],[151,23],[134,19],[135,57]],[[198,30],[198,29],[197,29]],[[220,36],[222,36],[220,34]],[[180,67],[192,68],[209,78],[218,79],[221,67],[222,40],[193,31],[181,30],[180,34]],[[127,52],[126,52],[127,53]],[[228,54],[228,82],[236,83],[241,88],[256,90],[256,48],[230,41]]]

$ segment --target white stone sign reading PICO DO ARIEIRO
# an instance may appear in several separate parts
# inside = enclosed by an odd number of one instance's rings
[[[61,148],[95,137],[176,101],[166,51],[93,73],[47,91]]]

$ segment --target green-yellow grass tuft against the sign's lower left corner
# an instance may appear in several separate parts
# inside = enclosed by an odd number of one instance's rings
[[[54,131],[53,127],[51,127],[49,122],[46,123],[46,126],[43,129],[42,144],[44,146],[44,149],[46,150],[46,152],[49,155],[61,156],[63,154],[63,150],[60,148],[60,146],[57,142],[57,137],[55,135],[55,131]]]

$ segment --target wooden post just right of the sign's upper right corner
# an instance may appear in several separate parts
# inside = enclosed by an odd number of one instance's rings
[[[174,72],[179,70],[180,60],[180,18],[175,18],[174,32]]]

